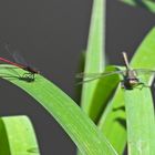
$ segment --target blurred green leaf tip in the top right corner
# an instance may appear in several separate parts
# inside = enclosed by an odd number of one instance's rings
[[[153,13],[155,13],[155,1],[152,0],[120,0],[133,7],[144,8]]]

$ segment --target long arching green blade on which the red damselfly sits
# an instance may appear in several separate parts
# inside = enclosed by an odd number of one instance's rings
[[[7,70],[7,66],[10,65],[0,65],[0,74],[13,74],[10,70]],[[13,70],[16,70],[21,75],[25,73],[25,71],[21,69]],[[27,82],[19,80],[14,75],[12,76],[12,79],[6,78],[6,80],[23,89],[27,93],[33,96],[50,114],[52,114],[58,123],[72,138],[72,141],[76,144],[82,154],[116,154],[115,149],[102,135],[89,116],[80,110],[73,100],[71,100],[53,83],[40,74],[35,75],[34,82]]]

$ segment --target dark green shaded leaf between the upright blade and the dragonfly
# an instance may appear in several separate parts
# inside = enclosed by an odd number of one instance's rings
[[[113,72],[116,71],[116,68],[107,66],[105,71]],[[120,78],[117,74],[99,79],[94,94],[92,96],[92,104],[90,108],[90,117],[93,118],[95,123],[99,122],[104,108],[106,107],[107,101],[112,96],[118,82]]]

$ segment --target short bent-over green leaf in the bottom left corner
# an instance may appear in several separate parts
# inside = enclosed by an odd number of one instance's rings
[[[32,124],[27,116],[1,117],[0,137],[1,155],[40,155]]]

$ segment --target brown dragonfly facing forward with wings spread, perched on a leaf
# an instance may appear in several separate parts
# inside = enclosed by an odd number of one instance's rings
[[[126,52],[122,52],[124,64],[125,64],[125,70],[118,70],[118,71],[112,71],[112,72],[103,72],[103,73],[79,73],[76,74],[78,79],[83,79],[82,82],[79,84],[83,84],[86,82],[91,82],[101,78],[114,75],[114,74],[121,74],[123,76],[123,80],[121,81],[121,85],[125,90],[133,90],[134,87],[137,87],[140,85],[143,86],[149,86],[146,85],[144,82],[141,82],[138,79],[138,74],[149,74],[153,75],[155,74],[155,70],[149,70],[149,69],[132,69],[128,63],[127,54]]]

